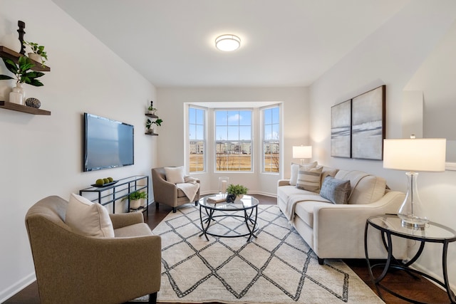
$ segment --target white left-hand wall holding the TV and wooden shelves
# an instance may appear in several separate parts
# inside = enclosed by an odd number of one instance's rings
[[[0,45],[17,38],[18,20],[26,23],[25,39],[48,51],[44,86],[25,88],[52,114],[0,109],[0,302],[34,280],[24,225],[32,204],[54,194],[68,199],[99,177],[150,175],[155,166],[156,139],[144,135],[154,86],[49,0],[1,0]],[[3,62],[0,74],[9,74]],[[8,100],[12,85],[0,81],[0,100]],[[82,172],[83,112],[135,125],[134,166]]]

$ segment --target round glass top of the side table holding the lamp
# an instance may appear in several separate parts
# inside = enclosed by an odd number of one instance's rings
[[[426,240],[450,240],[456,241],[456,231],[450,227],[443,226],[430,221],[424,229],[406,227],[401,224],[401,219],[394,214],[371,216],[368,221],[384,231],[391,231],[393,234],[409,237],[411,239]]]

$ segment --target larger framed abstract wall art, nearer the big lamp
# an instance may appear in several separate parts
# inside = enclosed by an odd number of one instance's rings
[[[383,159],[385,85],[356,96],[351,104],[351,157]]]

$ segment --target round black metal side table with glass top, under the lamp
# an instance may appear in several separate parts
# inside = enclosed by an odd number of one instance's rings
[[[447,272],[447,251],[448,251],[448,244],[451,242],[456,241],[456,231],[450,229],[447,226],[443,226],[437,223],[433,223],[430,221],[426,224],[425,229],[413,229],[409,227],[403,227],[401,225],[401,220],[397,215],[393,214],[385,214],[379,216],[371,216],[366,221],[366,228],[364,230],[364,250],[366,252],[366,261],[368,263],[369,273],[371,274],[371,278],[373,283],[375,283],[375,287],[380,293],[379,288],[383,288],[384,290],[388,291],[392,295],[395,295],[398,298],[403,300],[407,300],[411,303],[422,303],[418,300],[412,300],[409,298],[405,298],[403,295],[395,293],[393,290],[386,288],[385,285],[381,284],[383,278],[385,278],[386,274],[390,269],[398,269],[407,271],[408,273],[416,273],[420,276],[424,276],[432,280],[433,282],[439,284],[447,291],[448,298],[450,298],[451,303],[456,303],[455,293],[452,292],[450,288],[450,282],[448,281],[448,272]],[[375,229],[380,230],[383,239],[383,245],[388,250],[388,258],[386,263],[379,263],[371,266],[371,261],[369,261],[368,255],[368,228],[372,226]],[[391,241],[391,236],[398,236],[403,239],[410,239],[420,242],[420,248],[418,249],[415,256],[413,256],[410,261],[407,263],[402,263],[397,261],[393,256],[393,242]],[[417,271],[409,266],[415,263],[415,261],[420,257],[421,253],[423,253],[423,249],[425,248],[425,243],[442,243],[442,272],[443,272],[443,282],[439,281],[437,278],[434,278],[427,273],[423,273],[422,271]],[[375,278],[373,276],[373,268],[375,267],[383,267],[383,272]]]

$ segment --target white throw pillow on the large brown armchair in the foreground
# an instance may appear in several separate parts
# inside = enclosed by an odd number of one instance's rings
[[[76,233],[84,236],[114,237],[113,222],[108,210],[98,203],[93,203],[83,196],[72,193],[65,222]]]

